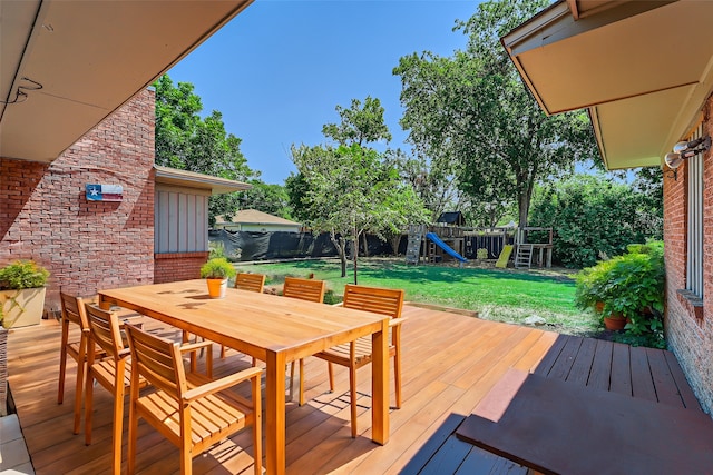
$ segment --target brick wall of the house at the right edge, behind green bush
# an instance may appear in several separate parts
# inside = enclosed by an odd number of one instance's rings
[[[713,136],[713,96],[704,109],[704,136]],[[713,150],[704,156],[703,307],[680,293],[686,286],[686,164],[664,178],[666,337],[701,405],[713,414]]]

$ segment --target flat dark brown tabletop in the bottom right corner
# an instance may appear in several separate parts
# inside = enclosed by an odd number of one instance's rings
[[[543,474],[711,474],[705,413],[510,369],[456,432]]]

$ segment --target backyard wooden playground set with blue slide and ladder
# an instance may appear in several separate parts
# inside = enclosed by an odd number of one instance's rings
[[[518,269],[529,269],[534,264],[551,267],[553,228],[485,229],[452,225],[440,218],[439,221],[431,226],[409,226],[407,264],[455,260],[462,267],[468,256],[476,256],[478,249],[485,248],[488,258],[497,258],[496,267],[505,268],[510,260]]]

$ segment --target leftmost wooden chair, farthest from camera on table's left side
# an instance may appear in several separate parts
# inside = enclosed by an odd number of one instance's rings
[[[85,310],[85,300],[81,297],[75,297],[62,291],[59,293],[61,300],[61,326],[62,338],[59,349],[59,389],[57,393],[57,404],[65,402],[65,379],[67,372],[67,356],[70,356],[77,362],[77,380],[75,389],[75,425],[74,433],[79,434],[79,426],[81,423],[81,399],[84,396],[85,372],[87,370],[87,350],[89,348],[89,323],[87,321],[87,314]],[[79,339],[69,340],[69,333],[71,326],[79,329]],[[95,349],[96,348],[96,349]],[[97,348],[95,349],[95,358],[100,357],[104,353]]]

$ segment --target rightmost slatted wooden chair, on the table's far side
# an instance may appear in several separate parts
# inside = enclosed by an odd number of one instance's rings
[[[391,342],[389,356],[393,356],[393,373],[395,382],[395,407],[401,407],[401,309],[403,308],[403,290],[348,284],[344,288],[346,308],[372,311],[391,317]],[[330,390],[334,390],[334,372],[332,364],[349,368],[349,385],[351,398],[352,437],[356,437],[356,369],[371,363],[371,337],[359,338],[356,342],[339,345],[325,352],[318,353],[318,358],[329,362]]]

